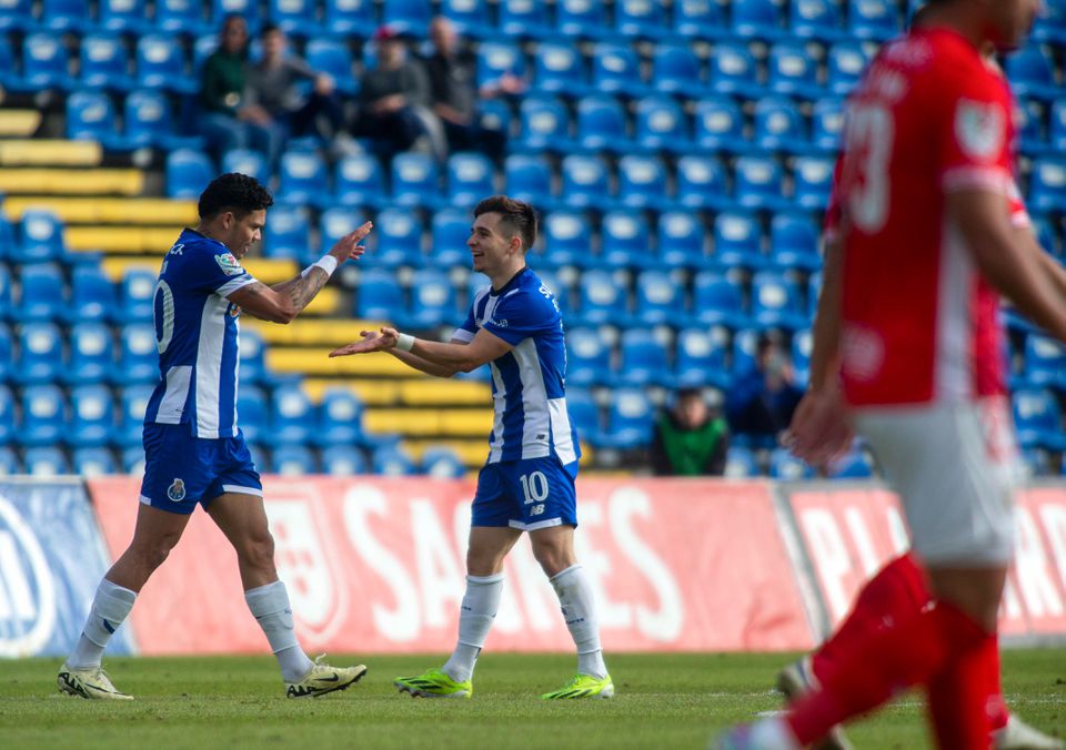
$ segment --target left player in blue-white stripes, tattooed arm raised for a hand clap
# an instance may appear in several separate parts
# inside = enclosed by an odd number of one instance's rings
[[[160,377],[144,415],[144,479],[133,540],[100,581],[84,630],[59,671],[62,692],[132,699],[101,669],[103,650],[197,505],[237,551],[245,601],[278,658],[288,697],[343,690],[366,672],[362,665],[312,662],[300,648],[274,567],[262,484],[238,425],[237,373],[241,312],[292,321],[340,263],[362,255],[359,242],[371,224],[341,237],[299,276],[271,287],[255,281],[241,259],[260,240],[272,204],[254,179],[223,174],[200,195],[199,225],[184,230],[163,259],[154,302]]]

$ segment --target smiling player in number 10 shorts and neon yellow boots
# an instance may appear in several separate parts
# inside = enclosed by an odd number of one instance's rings
[[[361,341],[330,354],[384,351],[439,377],[485,364],[492,368],[495,422],[472,508],[459,642],[443,668],[395,680],[412,696],[471,697],[474,662],[503,591],[503,561],[523,531],[529,531],[533,555],[559,596],[577,649],[577,673],[542,698],[614,695],[592,587],[574,555],[580,448],[566,412],[559,305],[552,290],[525,264],[535,240],[533,206],[502,195],[485,199],[474,209],[466,244],[474,271],[492,283],[474,297],[466,322],[451,342],[424,341],[383,327],[364,331]]]

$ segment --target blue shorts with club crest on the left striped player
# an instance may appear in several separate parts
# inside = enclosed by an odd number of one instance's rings
[[[242,434],[207,439],[189,425],[144,425],[141,503],[188,516],[223,493],[263,496]]]

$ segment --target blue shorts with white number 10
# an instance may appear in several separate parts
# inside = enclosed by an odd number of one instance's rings
[[[535,531],[577,526],[577,462],[555,456],[485,464],[477,475],[471,526],[511,526]]]

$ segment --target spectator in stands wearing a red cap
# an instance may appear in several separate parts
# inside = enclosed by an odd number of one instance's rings
[[[444,133],[430,110],[425,70],[408,59],[406,43],[392,27],[379,28],[373,41],[378,67],[368,70],[360,82],[353,134],[378,141],[386,158],[413,149],[444,159]]]

